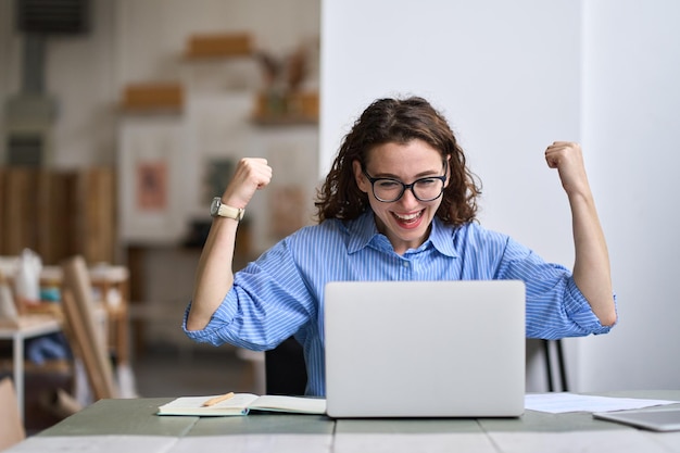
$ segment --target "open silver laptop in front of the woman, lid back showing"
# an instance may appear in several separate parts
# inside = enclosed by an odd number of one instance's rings
[[[328,415],[521,415],[525,302],[516,280],[328,284]]]

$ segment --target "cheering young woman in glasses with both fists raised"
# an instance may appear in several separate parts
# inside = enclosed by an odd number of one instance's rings
[[[570,203],[572,272],[475,221],[478,183],[445,118],[424,99],[370,104],[319,190],[318,224],[235,274],[238,221],[272,178],[265,160],[243,159],[215,202],[222,215],[200,259],[185,331],[196,341],[259,351],[294,335],[304,349],[308,395],[325,394],[320,309],[332,280],[521,279],[527,337],[607,332],[616,323],[615,298],[581,149],[554,142],[545,159]]]

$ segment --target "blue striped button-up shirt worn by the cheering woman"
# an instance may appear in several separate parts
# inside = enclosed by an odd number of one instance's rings
[[[527,337],[605,334],[571,273],[475,223],[454,228],[437,217],[430,237],[403,255],[376,229],[373,212],[343,223],[308,226],[235,274],[234,287],[209,325],[185,332],[196,341],[255,351],[294,335],[304,348],[306,394],[324,395],[324,288],[333,280],[524,280]],[[188,309],[187,309],[188,313]]]

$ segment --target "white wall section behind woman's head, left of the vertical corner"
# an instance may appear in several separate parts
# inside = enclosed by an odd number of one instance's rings
[[[570,235],[566,197],[543,151],[580,139],[580,15],[571,3],[325,2],[322,174],[372,100],[424,96],[448,116],[482,178],[484,224],[570,262],[569,244],[554,240]],[[536,218],[555,204],[564,207],[556,217]],[[536,235],[549,226],[552,237]]]

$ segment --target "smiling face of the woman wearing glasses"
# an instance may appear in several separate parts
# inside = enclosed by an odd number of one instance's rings
[[[405,185],[425,177],[440,177],[444,175],[441,153],[418,139],[405,144],[385,143],[368,152],[365,168],[362,168],[358,161],[354,161],[353,169],[360,190],[368,196],[370,207],[376,214],[378,230],[387,236],[394,251],[401,255],[406,250],[416,249],[425,242],[442,198],[420,201],[416,199],[413,190],[406,189],[399,200],[383,202],[375,197],[368,177],[396,179]],[[432,181],[439,184],[437,180]],[[426,180],[421,187],[427,187],[432,181]],[[448,183],[446,179],[445,185]],[[379,184],[376,183],[376,189]],[[398,191],[401,189],[399,185],[396,188]]]

